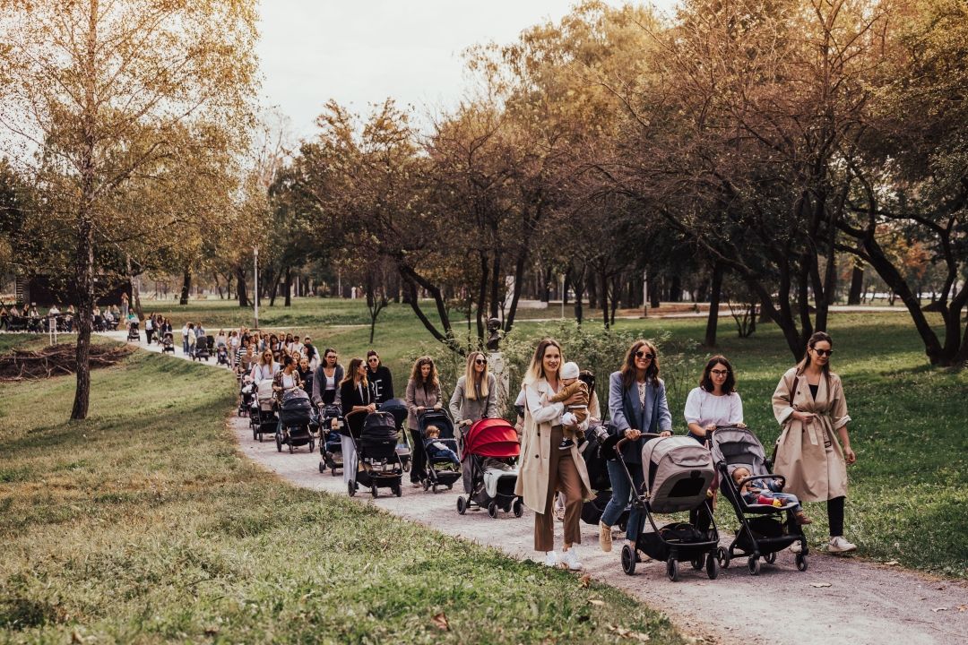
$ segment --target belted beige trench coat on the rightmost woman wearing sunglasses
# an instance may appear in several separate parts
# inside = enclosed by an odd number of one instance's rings
[[[786,478],[784,492],[797,495],[802,502],[846,496],[847,462],[836,430],[851,419],[840,377],[831,374],[829,387],[828,379],[821,378],[816,398],[810,394],[803,374],[797,380],[797,392],[791,392],[795,379],[797,368],[792,367],[773,393],[773,416],[783,426],[773,472]],[[804,425],[792,417],[795,409],[817,416],[813,423]]]

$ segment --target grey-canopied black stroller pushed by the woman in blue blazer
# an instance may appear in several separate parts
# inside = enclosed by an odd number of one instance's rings
[[[706,573],[714,580],[719,575],[716,560],[719,533],[715,521],[711,519],[708,531],[700,531],[689,522],[673,522],[659,528],[653,516],[654,513],[693,511],[704,504],[712,515],[706,494],[715,475],[710,451],[689,437],[659,438],[657,434],[645,432],[643,436],[650,441],[642,448],[645,484],[643,490],[632,495],[632,505],[642,512],[636,548],[653,560],[665,562],[666,575],[673,582],[679,579],[680,560],[690,562],[696,571],[703,568],[705,561]],[[619,441],[616,453],[620,454],[619,448],[624,441]],[[621,456],[619,463],[631,483],[632,476]],[[643,531],[646,518],[652,526],[649,533]],[[632,575],[637,561],[635,550],[628,544],[622,546],[622,571]]]

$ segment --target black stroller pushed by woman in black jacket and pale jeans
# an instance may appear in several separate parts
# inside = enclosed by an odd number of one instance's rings
[[[349,432],[357,458],[355,478],[347,483],[350,497],[360,485],[370,488],[374,497],[379,495],[379,488],[389,488],[397,497],[404,494],[404,467],[397,455],[397,435],[396,420],[388,412],[368,414],[358,437]]]

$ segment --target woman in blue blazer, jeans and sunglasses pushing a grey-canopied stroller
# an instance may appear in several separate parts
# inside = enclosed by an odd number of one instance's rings
[[[621,446],[621,458],[628,466],[636,490],[642,488],[642,448],[646,443],[643,432],[672,434],[672,415],[666,400],[665,383],[659,378],[658,350],[649,340],[636,340],[625,353],[621,369],[612,372],[608,383],[608,409],[612,419],[609,432],[626,439]],[[632,498],[632,488],[618,461],[606,462],[612,482],[609,500],[598,524],[598,542],[603,551],[612,550],[612,526],[619,521]],[[625,525],[625,538],[636,553],[641,513],[634,506]]]

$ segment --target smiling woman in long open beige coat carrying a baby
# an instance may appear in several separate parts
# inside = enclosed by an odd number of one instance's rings
[[[561,562],[572,571],[582,568],[576,544],[582,542],[582,505],[591,497],[589,473],[577,445],[560,450],[563,437],[561,414],[578,396],[560,403],[548,399],[559,391],[561,346],[545,338],[538,343],[528,373],[525,375],[525,426],[521,437],[521,468],[515,494],[524,497],[525,505],[534,512],[534,550],[545,554],[545,564],[557,567]],[[585,429],[588,421],[580,427]],[[564,495],[564,545],[561,558],[555,551],[555,492]]]

